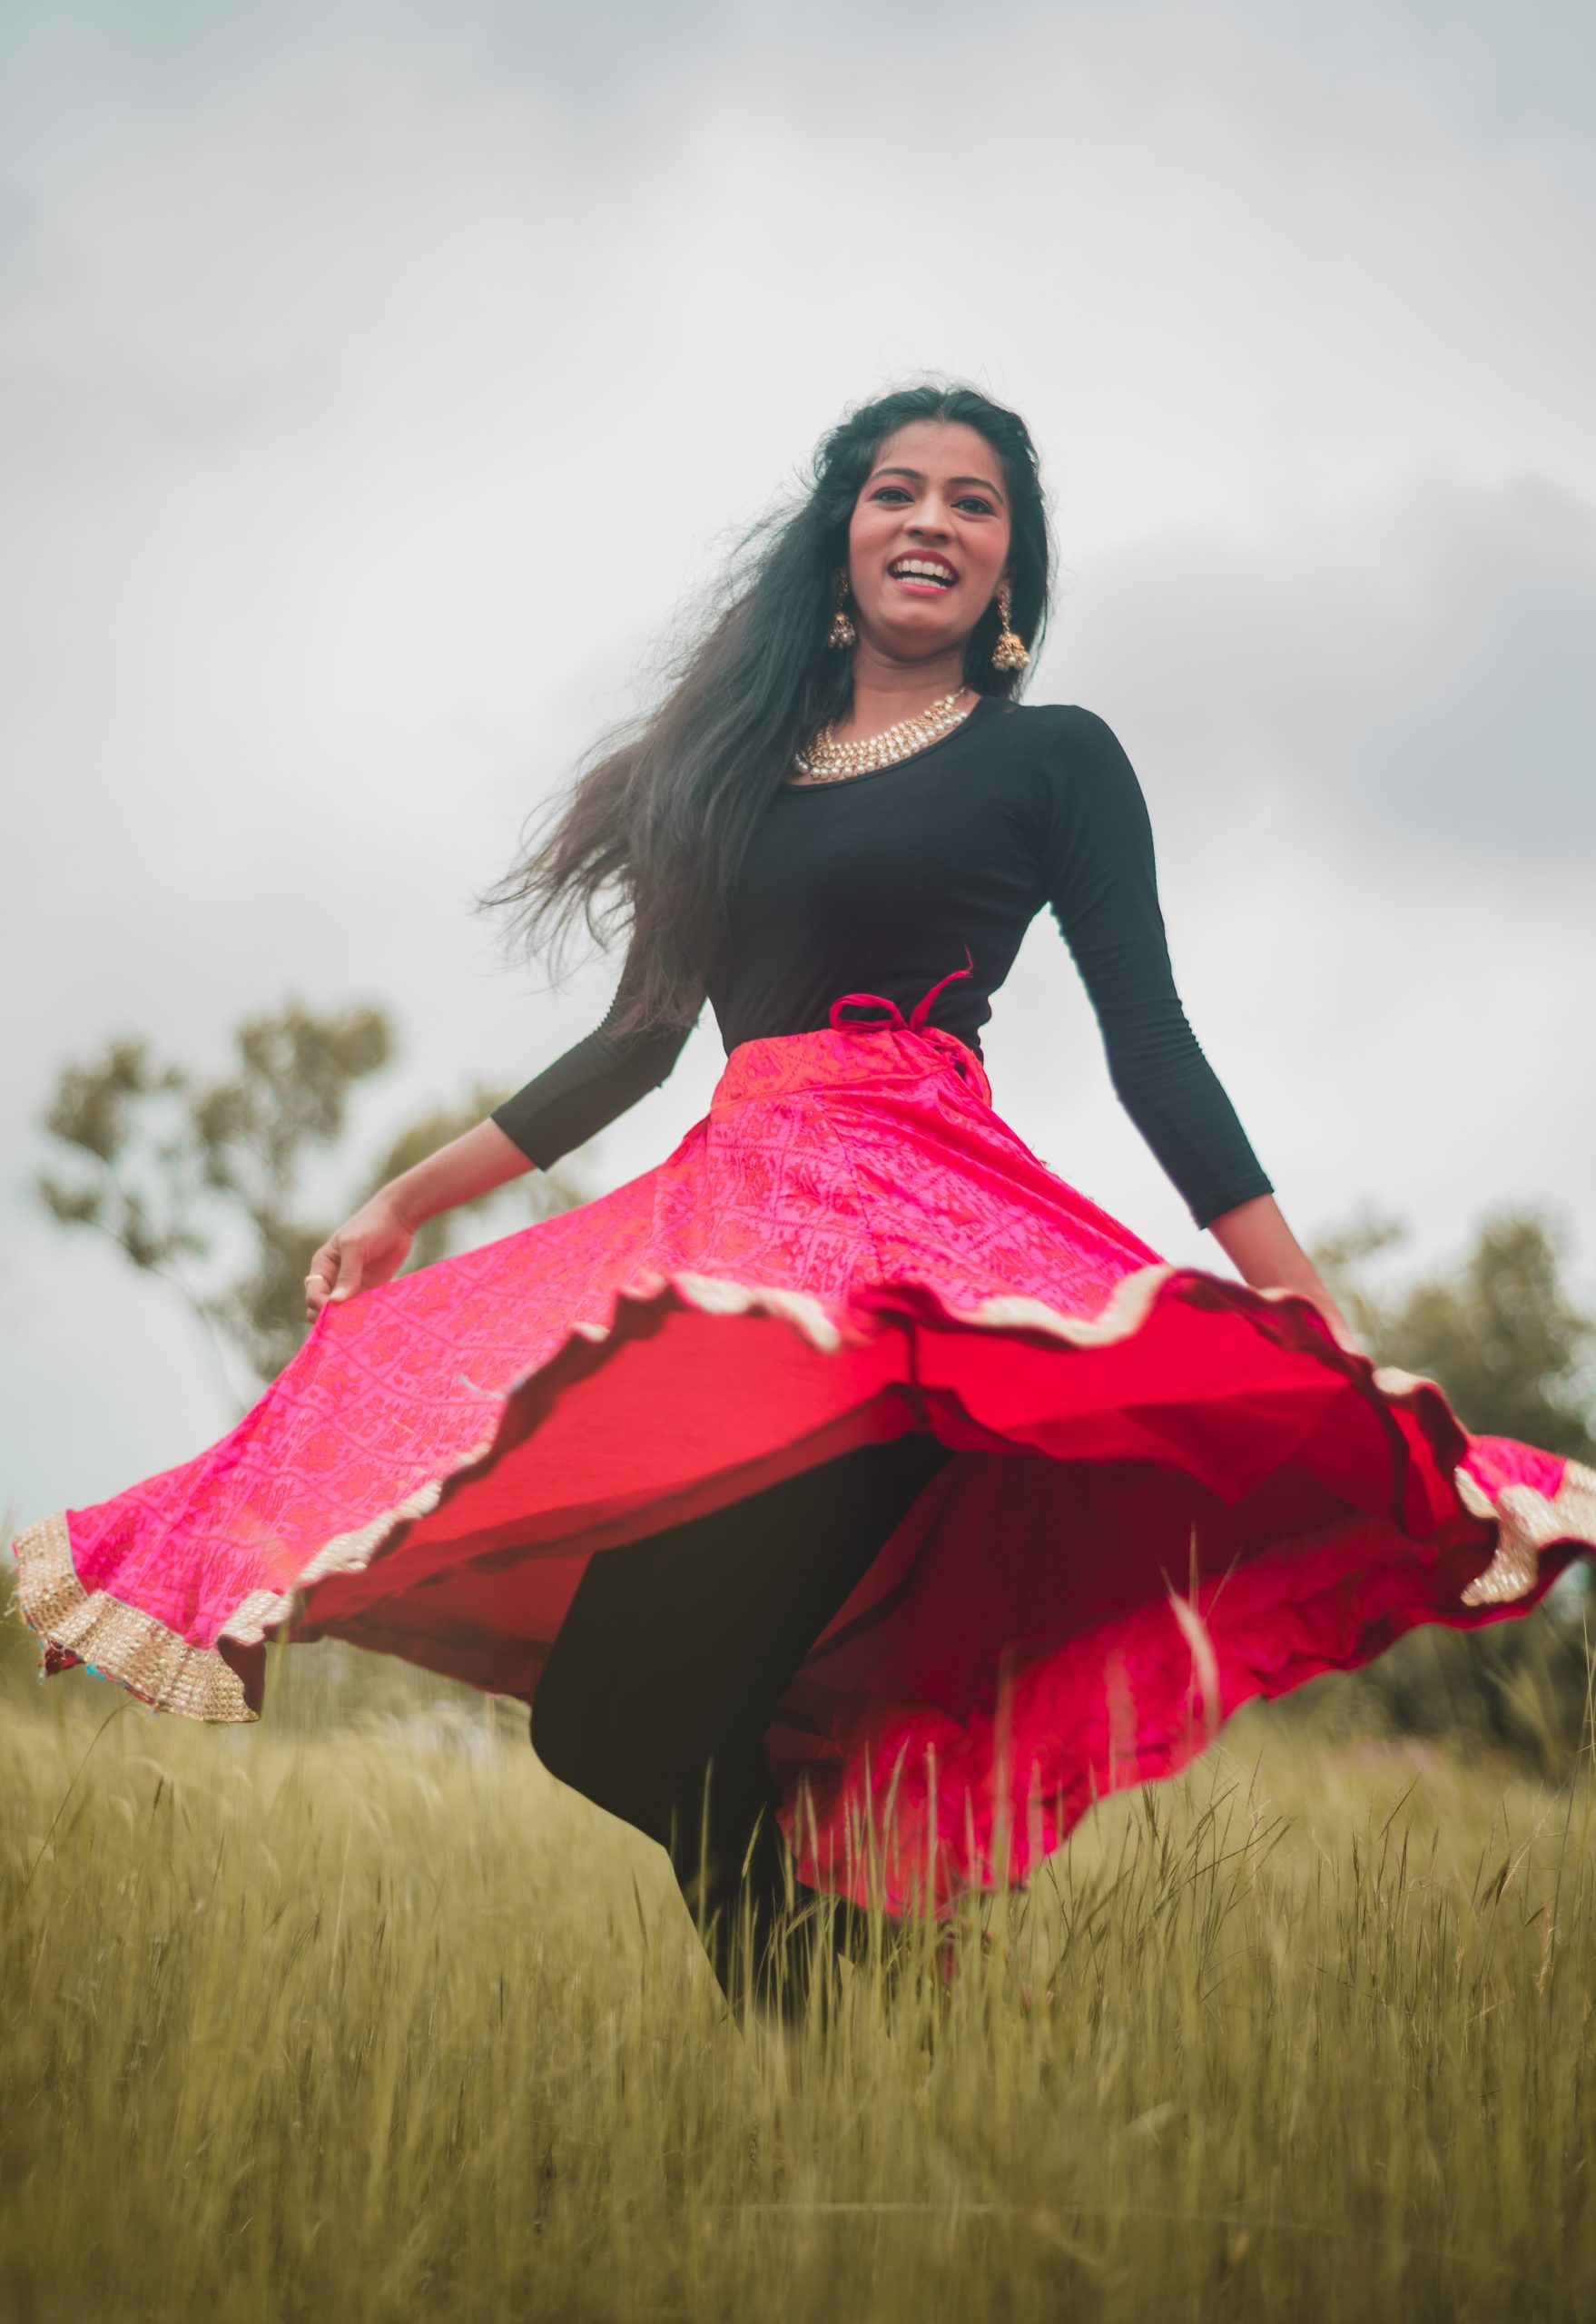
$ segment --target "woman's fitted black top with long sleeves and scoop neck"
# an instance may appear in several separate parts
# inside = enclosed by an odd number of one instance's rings
[[[709,1004],[739,1041],[815,1032],[843,992],[904,1016],[950,969],[932,1023],[980,1053],[992,995],[1050,906],[1097,1011],[1113,1088],[1206,1227],[1273,1192],[1196,1046],[1169,967],[1141,783],[1085,709],[983,697],[894,767],[783,783],[729,899]],[[609,1018],[493,1120],[541,1169],[657,1088],[690,1027],[616,1037]]]

